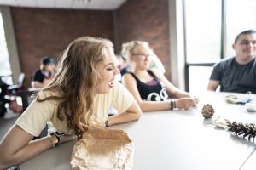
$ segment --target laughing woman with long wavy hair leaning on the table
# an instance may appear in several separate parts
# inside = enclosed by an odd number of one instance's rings
[[[90,127],[137,120],[142,111],[125,87],[115,81],[119,69],[114,59],[113,44],[107,39],[79,37],[71,42],[55,77],[1,141],[0,169],[32,159],[63,142],[81,139]],[[108,117],[110,106],[119,114]],[[51,122],[56,132],[32,140],[46,122]]]

